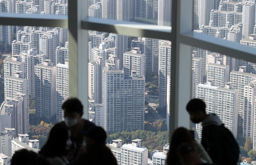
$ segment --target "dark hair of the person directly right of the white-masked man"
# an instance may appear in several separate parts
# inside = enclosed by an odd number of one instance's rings
[[[97,143],[105,143],[107,134],[102,127],[93,126],[85,132],[85,137],[90,137],[91,139],[96,140]]]

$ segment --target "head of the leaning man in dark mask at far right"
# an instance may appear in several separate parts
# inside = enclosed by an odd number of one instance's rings
[[[193,123],[200,123],[206,116],[206,105],[203,100],[194,98],[189,101],[186,110],[189,112],[190,120]]]

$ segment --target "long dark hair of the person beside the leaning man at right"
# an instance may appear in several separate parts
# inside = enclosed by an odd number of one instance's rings
[[[192,143],[192,137],[189,133],[189,130],[184,127],[177,128],[172,133],[170,150],[167,154],[168,165],[171,165],[171,164],[176,165],[177,162],[179,161],[176,155],[176,151],[177,151],[177,147],[182,143]]]

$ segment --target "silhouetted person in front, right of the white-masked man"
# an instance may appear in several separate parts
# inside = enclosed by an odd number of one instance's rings
[[[116,158],[106,146],[107,134],[99,126],[90,128],[85,134],[85,151],[70,165],[117,165]]]

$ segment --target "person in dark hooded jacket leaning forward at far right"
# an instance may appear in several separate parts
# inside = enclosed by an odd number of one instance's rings
[[[202,122],[201,143],[216,164],[236,165],[239,161],[239,146],[233,134],[224,127],[215,114],[206,114],[206,104],[195,98],[186,106],[193,123]]]

